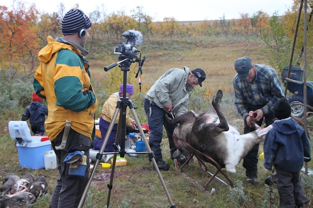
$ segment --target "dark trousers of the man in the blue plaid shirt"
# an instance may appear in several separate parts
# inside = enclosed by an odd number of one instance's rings
[[[262,108],[262,105],[253,106],[248,105],[249,111],[255,111],[257,109]],[[270,112],[269,114],[265,114],[263,116],[265,118],[265,125],[268,126],[274,122],[274,116],[273,113]],[[256,122],[259,126],[262,125],[263,118],[261,118],[258,122]],[[247,125],[246,119],[244,119],[244,129],[243,133],[247,134],[249,132],[255,131],[255,128],[250,128]],[[259,153],[259,144],[256,144],[252,150],[243,158],[242,166],[246,169],[246,176],[257,176],[258,175],[258,153]]]

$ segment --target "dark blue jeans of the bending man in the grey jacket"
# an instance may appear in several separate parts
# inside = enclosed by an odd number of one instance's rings
[[[166,130],[171,153],[174,153],[176,151],[176,146],[173,140],[173,132],[178,125],[177,124],[173,125],[169,123],[165,118],[167,114],[166,111],[159,108],[155,102],[151,103],[152,114],[151,116],[149,116],[150,114],[149,105],[150,105],[149,100],[145,98],[145,111],[148,117],[148,125],[150,129],[149,145],[151,147],[151,150],[155,154],[156,161],[161,161],[163,159],[160,143],[163,137],[163,125]]]

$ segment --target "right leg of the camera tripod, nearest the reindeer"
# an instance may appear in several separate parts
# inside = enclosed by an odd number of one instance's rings
[[[135,112],[135,110],[134,110],[133,108],[130,108],[130,111],[131,111],[131,113],[132,113],[132,116],[133,116],[134,120],[136,121],[137,127],[138,127],[139,132],[140,132],[140,134],[141,134],[141,136],[142,136],[142,139],[143,139],[143,141],[145,142],[145,145],[146,145],[146,147],[147,147],[147,151],[148,151],[149,158],[152,160],[153,165],[154,165],[155,168],[156,168],[156,173],[157,173],[157,175],[158,175],[158,178],[159,178],[160,181],[161,181],[161,184],[162,184],[162,186],[163,186],[163,188],[164,188],[165,194],[166,194],[167,199],[168,199],[168,201],[169,201],[169,203],[170,203],[170,205],[171,205],[171,208],[176,208],[175,204],[173,204],[173,201],[172,201],[172,199],[171,199],[171,196],[170,196],[170,194],[169,194],[169,192],[168,192],[168,190],[167,190],[167,187],[166,187],[166,185],[165,185],[165,183],[164,183],[164,180],[163,180],[163,178],[162,178],[161,172],[160,172],[160,170],[159,170],[158,167],[157,167],[155,155],[154,155],[154,153],[152,152],[152,150],[151,150],[151,148],[150,148],[150,145],[149,145],[148,140],[147,140],[147,138],[146,138],[146,136],[145,136],[145,133],[143,132],[143,129],[142,129],[142,127],[141,127],[141,124],[140,124],[140,122],[139,122],[139,119],[138,119],[138,117],[137,117],[137,115],[136,115],[136,112]]]

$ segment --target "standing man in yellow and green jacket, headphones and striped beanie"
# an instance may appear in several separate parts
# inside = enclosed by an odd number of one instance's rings
[[[55,40],[48,36],[48,45],[38,53],[41,63],[33,85],[36,94],[47,100],[46,132],[57,156],[59,171],[50,208],[77,208],[88,183],[90,139],[97,109],[85,58],[89,52],[84,49],[91,24],[81,10],[71,9],[62,19],[63,36]],[[71,128],[65,148],[59,149],[56,147],[62,142],[66,120],[71,121]],[[63,162],[69,153],[76,151],[83,153],[85,161],[80,164],[85,165],[81,174],[71,171],[75,165]]]

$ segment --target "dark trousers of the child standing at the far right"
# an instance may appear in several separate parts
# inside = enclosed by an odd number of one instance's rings
[[[300,172],[289,173],[276,167],[280,208],[294,208],[310,200],[304,196]]]

